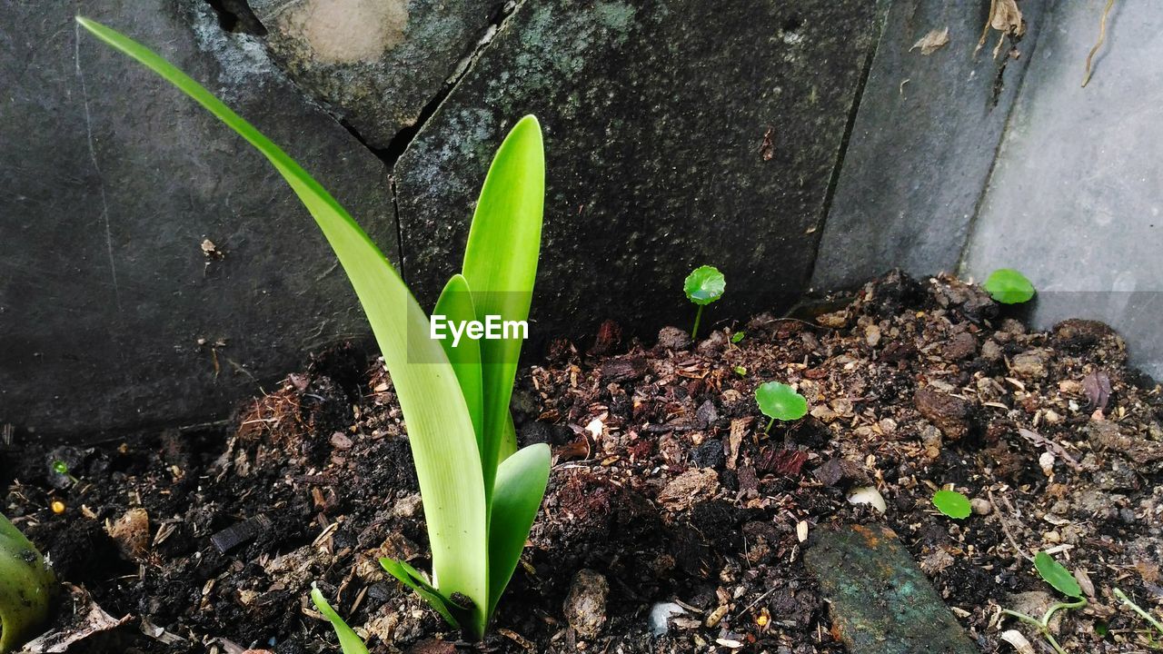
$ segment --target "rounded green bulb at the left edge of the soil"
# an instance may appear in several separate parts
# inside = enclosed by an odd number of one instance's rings
[[[56,589],[44,556],[0,516],[0,653],[16,649],[44,624]]]

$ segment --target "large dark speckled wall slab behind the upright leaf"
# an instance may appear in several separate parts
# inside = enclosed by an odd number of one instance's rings
[[[548,194],[531,335],[685,326],[683,279],[704,263],[727,276],[705,320],[786,305],[876,23],[870,0],[521,3],[395,166],[409,283],[430,306],[493,150],[534,113]]]

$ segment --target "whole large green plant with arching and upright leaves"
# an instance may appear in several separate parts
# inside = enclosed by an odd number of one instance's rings
[[[383,351],[420,481],[431,581],[406,563],[380,563],[449,624],[479,640],[516,569],[549,478],[547,445],[516,452],[509,398],[521,340],[483,340],[473,342],[475,347],[457,348],[448,340],[427,337],[431,333],[429,318],[399,273],[297,162],[144,45],[87,19],[78,17],[77,22],[237,131],[273,164],[315,219],[355,287]],[[493,158],[462,271],[445,286],[437,313],[478,321],[486,317],[505,321],[528,318],[543,201],[541,127],[535,118],[526,116]]]

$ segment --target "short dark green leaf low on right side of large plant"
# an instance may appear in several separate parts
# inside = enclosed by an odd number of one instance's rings
[[[549,446],[537,443],[501,462],[493,486],[493,516],[488,529],[488,611],[493,614],[516,569],[541,500],[549,483]]]

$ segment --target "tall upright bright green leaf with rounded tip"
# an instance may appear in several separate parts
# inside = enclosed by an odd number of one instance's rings
[[[527,320],[541,250],[545,198],[545,155],[541,125],[529,115],[505,137],[488,168],[464,249],[463,275],[472,289],[478,320]],[[507,429],[519,339],[480,342],[485,400],[481,469],[485,492],[493,488],[498,462],[516,449]]]

